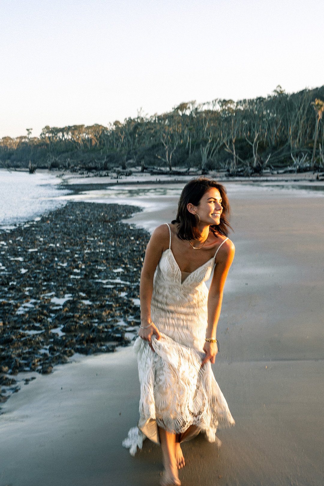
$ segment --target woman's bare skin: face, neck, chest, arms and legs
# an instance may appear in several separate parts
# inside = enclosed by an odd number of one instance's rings
[[[193,249],[188,241],[180,240],[176,234],[176,225],[170,225],[172,233],[171,251],[182,274],[185,276],[213,258],[217,248],[222,241],[225,240],[225,237],[222,234],[219,233],[215,236],[210,231],[210,225],[220,224],[220,217],[222,214],[222,198],[220,192],[216,188],[211,188],[209,191],[205,192],[199,201],[198,206],[189,203],[187,209],[188,212],[196,215],[197,218],[199,236],[196,240],[191,240],[190,243],[195,247],[201,247],[199,250]],[[157,340],[161,337],[159,330],[151,319],[153,277],[162,253],[168,248],[169,229],[167,225],[158,226],[153,231],[146,249],[139,291],[141,325],[145,327],[151,323],[151,326],[145,330],[140,329],[138,334],[142,339],[145,339],[149,343],[152,350],[151,338],[153,334]],[[230,240],[227,240],[216,256],[216,266],[208,293],[208,325],[206,338],[216,338],[217,323],[222,307],[223,288],[234,258],[234,253],[234,244]],[[202,362],[202,366],[208,361],[215,363],[215,358],[218,352],[217,343],[205,342],[203,349],[205,351],[205,358]],[[175,434],[171,434],[160,428],[159,434],[165,468],[165,476],[161,484],[180,485],[178,469],[185,466],[185,459],[180,444],[175,442]]]

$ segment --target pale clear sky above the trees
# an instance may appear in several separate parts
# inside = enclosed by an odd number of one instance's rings
[[[0,0],[0,138],[324,84],[323,0]]]

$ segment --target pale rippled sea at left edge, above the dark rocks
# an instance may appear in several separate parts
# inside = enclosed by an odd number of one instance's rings
[[[0,170],[0,227],[30,221],[66,204],[59,196],[68,194],[57,184],[61,179],[49,172]]]

